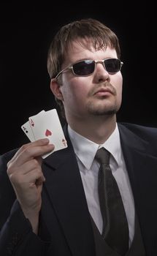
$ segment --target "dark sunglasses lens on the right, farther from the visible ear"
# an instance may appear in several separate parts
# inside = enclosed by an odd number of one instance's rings
[[[104,60],[104,66],[109,73],[116,73],[120,71],[120,60],[119,59],[106,59]]]

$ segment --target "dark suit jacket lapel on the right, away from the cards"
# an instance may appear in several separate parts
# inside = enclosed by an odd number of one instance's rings
[[[149,242],[153,246],[157,230],[157,158],[150,154],[147,141],[120,124],[118,127],[142,236],[146,246]]]

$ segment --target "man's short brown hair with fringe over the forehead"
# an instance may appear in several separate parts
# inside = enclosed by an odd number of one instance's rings
[[[120,59],[120,45],[116,34],[103,23],[92,18],[76,20],[65,26],[55,34],[50,44],[47,55],[47,70],[50,78],[55,78],[61,71],[61,65],[65,59],[65,53],[68,46],[77,38],[88,38],[93,43],[94,48],[106,48],[110,46],[116,50],[118,59]],[[64,106],[61,100],[55,99],[60,105],[61,111]],[[64,116],[64,115],[63,115]]]

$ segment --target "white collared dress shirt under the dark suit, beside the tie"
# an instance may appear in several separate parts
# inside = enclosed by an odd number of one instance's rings
[[[102,145],[93,143],[93,141],[79,135],[69,126],[68,132],[80,168],[80,175],[83,181],[88,209],[100,233],[102,233],[102,214],[100,211],[97,189],[99,163],[94,157],[99,148],[104,147],[110,151],[110,167],[120,189],[120,195],[123,200],[123,206],[126,211],[129,225],[129,244],[131,244],[134,237],[134,199],[131,192],[126,164],[123,159],[123,152],[120,146],[120,135],[117,124],[114,132],[110,135],[110,138],[108,138]]]

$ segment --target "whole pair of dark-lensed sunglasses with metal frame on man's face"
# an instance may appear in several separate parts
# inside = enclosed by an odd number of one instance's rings
[[[119,59],[103,59],[102,61],[93,61],[91,59],[85,59],[84,61],[77,61],[72,66],[66,67],[65,69],[61,70],[58,75],[55,76],[55,79],[61,75],[62,72],[66,71],[67,69],[72,69],[72,72],[76,76],[88,76],[93,74],[96,64],[100,63],[104,66],[104,69],[107,70],[110,74],[115,74],[120,71],[121,67],[123,66],[123,62]]]

